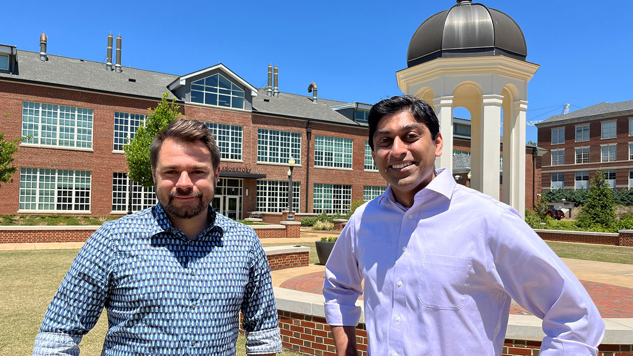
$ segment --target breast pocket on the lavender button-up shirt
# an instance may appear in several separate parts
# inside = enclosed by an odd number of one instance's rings
[[[472,258],[424,255],[420,268],[418,300],[428,308],[458,310],[463,307]]]

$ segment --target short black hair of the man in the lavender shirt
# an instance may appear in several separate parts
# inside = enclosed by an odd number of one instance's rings
[[[369,124],[369,146],[373,151],[373,135],[376,133],[380,119],[387,115],[394,115],[403,111],[410,111],[417,122],[427,125],[431,133],[431,139],[436,139],[439,132],[439,120],[435,111],[426,101],[410,95],[392,96],[375,103],[369,111],[367,123]]]

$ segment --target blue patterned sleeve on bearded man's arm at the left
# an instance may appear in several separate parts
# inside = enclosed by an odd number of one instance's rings
[[[115,246],[104,224],[81,248],[46,310],[34,356],[79,355],[78,344],[99,320],[108,295]]]

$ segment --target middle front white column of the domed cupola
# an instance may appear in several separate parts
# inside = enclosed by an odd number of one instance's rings
[[[481,122],[481,192],[499,199],[499,130],[501,127],[501,104],[503,96],[482,96]]]

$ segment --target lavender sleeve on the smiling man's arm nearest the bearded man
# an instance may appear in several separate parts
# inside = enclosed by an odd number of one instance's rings
[[[363,276],[354,248],[354,216],[341,231],[325,264],[325,319],[332,326],[356,326],[360,321],[361,308],[356,300],[363,294]]]

